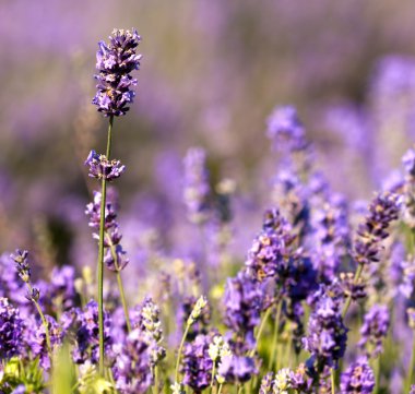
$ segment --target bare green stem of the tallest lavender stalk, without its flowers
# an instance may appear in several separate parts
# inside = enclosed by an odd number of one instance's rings
[[[107,159],[111,152],[111,132],[114,116],[109,118],[107,139]],[[99,327],[99,374],[104,377],[104,235],[105,235],[105,205],[107,199],[107,181],[102,179],[100,217],[99,217],[99,248],[98,248],[98,327]]]

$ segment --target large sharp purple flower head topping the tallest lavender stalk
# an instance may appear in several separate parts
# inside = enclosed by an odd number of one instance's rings
[[[126,115],[129,110],[127,106],[134,98],[135,93],[131,87],[137,85],[137,79],[130,73],[140,68],[142,56],[137,55],[140,40],[135,29],[114,29],[109,44],[98,44],[96,68],[99,73],[95,75],[98,84],[92,103],[106,117]]]

